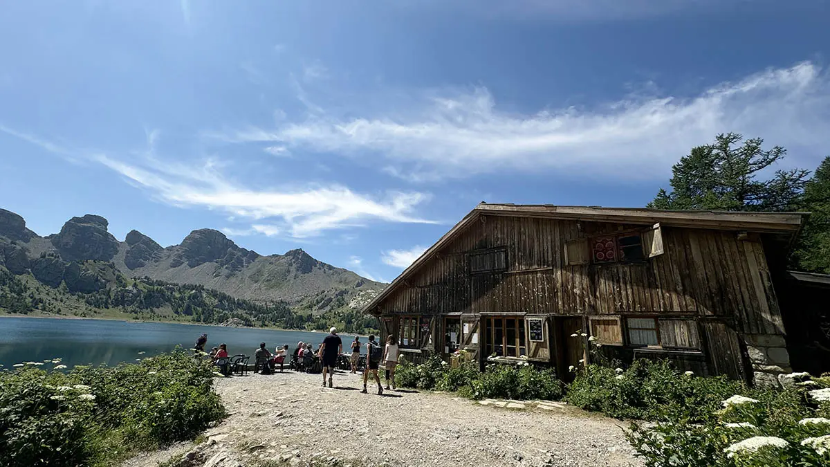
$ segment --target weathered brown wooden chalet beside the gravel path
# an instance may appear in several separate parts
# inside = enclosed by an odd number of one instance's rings
[[[775,285],[806,216],[481,203],[364,309],[414,361],[461,348],[567,379],[599,343],[776,385],[792,365]]]

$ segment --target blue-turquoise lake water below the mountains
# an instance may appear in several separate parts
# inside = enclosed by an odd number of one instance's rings
[[[267,329],[195,326],[164,322],[124,322],[100,319],[54,319],[37,317],[0,317],[0,365],[11,368],[22,361],[44,361],[56,357],[67,366],[115,365],[122,361],[171,351],[177,345],[193,348],[199,336],[207,332],[207,346],[227,344],[231,355],[253,355],[260,342],[274,351],[288,344],[291,351],[297,342],[320,346],[325,332],[272,331]],[[354,336],[339,335],[344,351]],[[360,342],[366,342],[361,338]],[[144,352],[139,354],[139,352]]]

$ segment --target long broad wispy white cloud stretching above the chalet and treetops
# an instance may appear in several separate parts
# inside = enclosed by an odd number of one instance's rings
[[[307,96],[304,94],[304,99]],[[225,133],[310,151],[380,160],[413,181],[501,170],[560,170],[569,176],[665,178],[671,164],[721,132],[762,136],[790,149],[830,146],[830,79],[812,62],[724,82],[696,96],[628,96],[602,105],[500,111],[483,87],[445,93],[406,111],[335,117],[323,109],[272,129]]]

